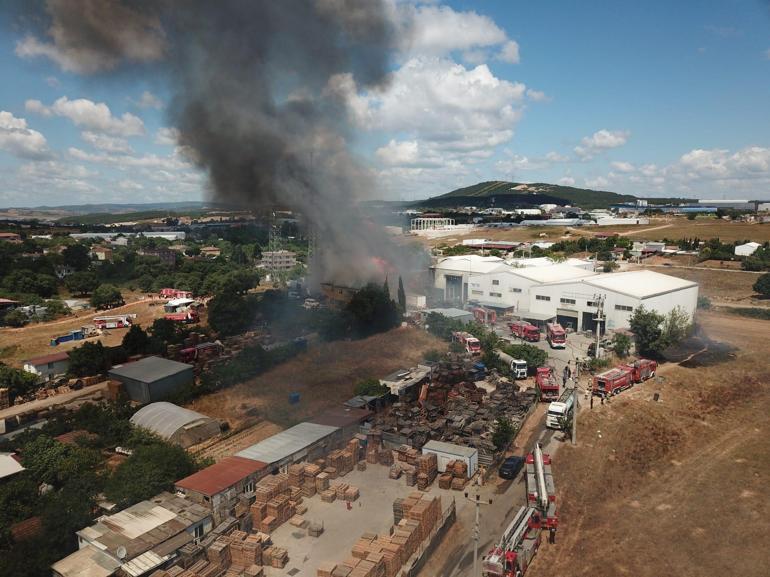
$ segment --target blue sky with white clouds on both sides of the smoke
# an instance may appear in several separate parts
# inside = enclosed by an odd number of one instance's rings
[[[377,196],[506,179],[770,197],[768,3],[387,3],[389,90],[340,88]],[[162,81],[84,74],[13,26],[0,72],[0,206],[205,198]]]

